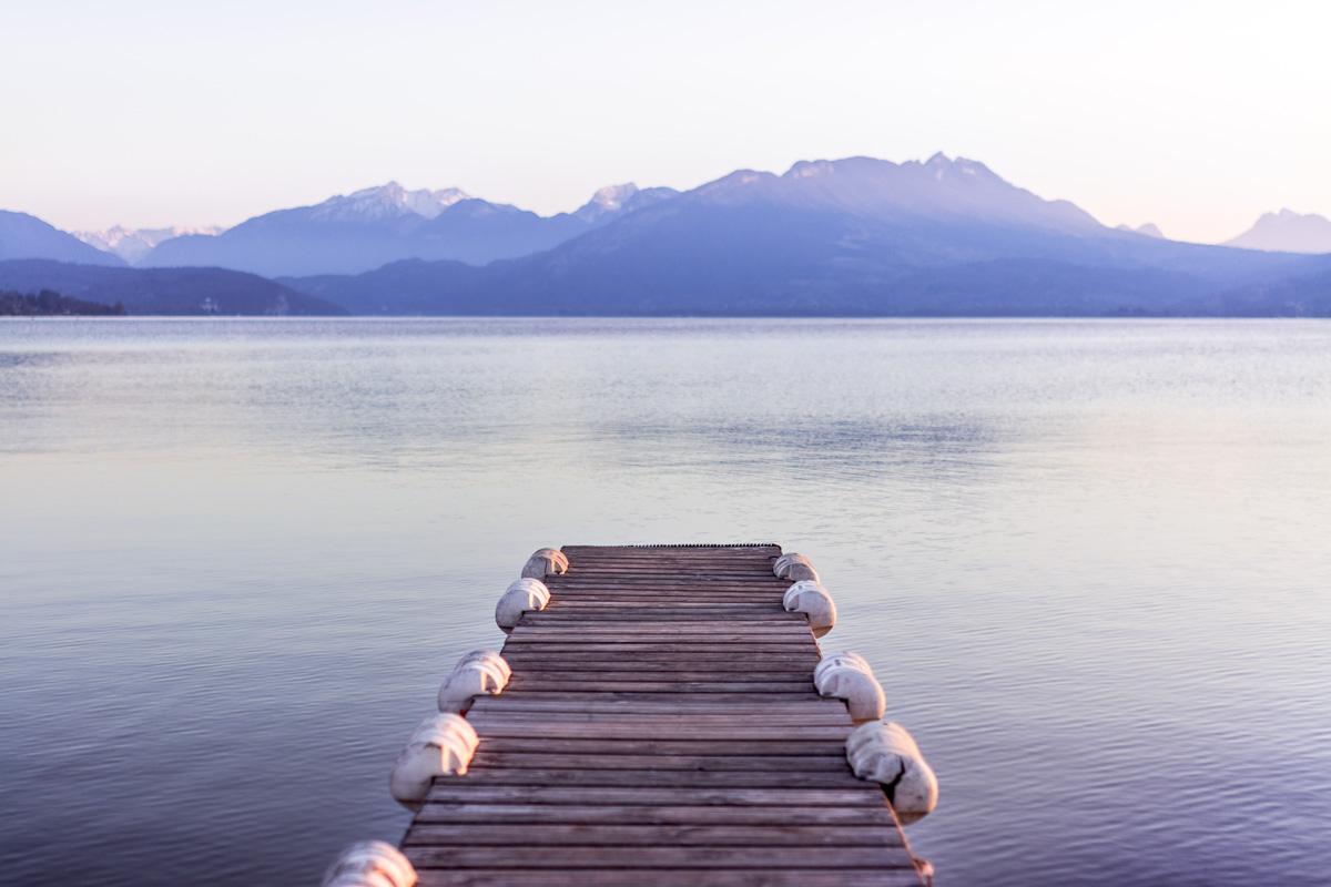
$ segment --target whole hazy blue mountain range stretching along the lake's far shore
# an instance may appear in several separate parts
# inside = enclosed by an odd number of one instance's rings
[[[1292,214],[1275,218],[1284,215]],[[1286,230],[1303,230],[1307,218]],[[137,250],[152,235],[85,237]],[[0,259],[24,254],[124,265],[33,217],[0,215]],[[158,239],[138,266],[75,273],[0,262],[0,285],[122,301],[132,313],[1299,315],[1331,307],[1331,255],[1181,243],[1154,225],[1111,229],[978,161],[944,154],[737,170],[684,193],[620,185],[550,217],[458,189],[390,182],[218,234]],[[214,295],[182,290],[186,281]],[[242,290],[252,293],[240,298]]]

